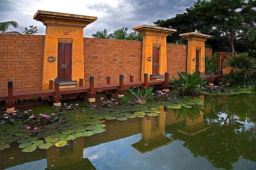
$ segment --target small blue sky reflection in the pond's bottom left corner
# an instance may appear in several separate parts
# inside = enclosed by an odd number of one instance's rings
[[[13,161],[15,161],[15,160],[13,160]],[[8,168],[6,168],[6,170],[20,170],[20,169],[35,170],[35,169],[45,169],[45,168],[47,168],[47,160],[41,159],[41,160],[37,160],[37,161],[33,161],[33,162],[27,162],[24,164],[20,164],[20,165],[13,166],[13,167],[8,167]]]

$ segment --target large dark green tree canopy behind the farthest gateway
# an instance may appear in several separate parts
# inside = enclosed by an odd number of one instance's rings
[[[255,50],[255,7],[253,0],[198,0],[183,14],[154,23],[177,30],[167,37],[169,43],[187,43],[179,34],[198,32],[214,36],[206,41],[214,51],[247,52]]]

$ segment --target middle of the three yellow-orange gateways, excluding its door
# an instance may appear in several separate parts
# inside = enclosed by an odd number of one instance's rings
[[[176,30],[148,25],[134,27],[133,30],[143,35],[141,80],[144,79],[145,73],[153,74],[153,47],[159,48],[158,75],[164,75],[167,71],[166,36]]]

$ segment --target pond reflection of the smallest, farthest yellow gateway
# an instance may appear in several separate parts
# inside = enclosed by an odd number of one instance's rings
[[[203,96],[201,98],[204,100]],[[199,110],[199,112],[200,117],[197,117],[196,119],[190,119],[186,117],[186,126],[182,129],[178,129],[178,132],[189,136],[194,136],[200,132],[205,131],[206,129],[209,129],[210,125],[203,122],[203,112],[201,110]]]

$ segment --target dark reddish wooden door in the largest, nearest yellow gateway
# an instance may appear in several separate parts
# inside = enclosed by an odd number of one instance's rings
[[[58,78],[60,81],[71,80],[72,44],[58,43]]]

